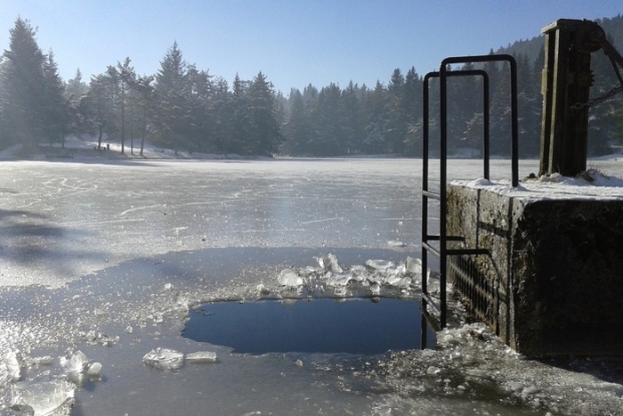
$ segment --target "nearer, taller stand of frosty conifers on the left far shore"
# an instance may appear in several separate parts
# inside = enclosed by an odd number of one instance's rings
[[[53,53],[18,18],[0,62],[0,147],[63,143],[93,134],[142,154],[146,142],[185,151],[270,155],[283,143],[279,105],[267,77],[238,76],[230,88],[184,61],[174,45],[158,72],[139,76],[130,58],[109,65],[87,84],[80,70],[63,83]]]

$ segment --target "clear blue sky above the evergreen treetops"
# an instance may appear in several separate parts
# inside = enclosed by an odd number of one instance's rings
[[[231,80],[260,70],[287,94],[387,83],[393,69],[438,69],[445,57],[489,53],[538,36],[554,20],[623,12],[621,0],[0,0],[0,48],[18,16],[38,28],[61,77],[87,81],[129,57],[154,74],[177,41],[198,69]],[[623,45],[617,45],[619,51]]]

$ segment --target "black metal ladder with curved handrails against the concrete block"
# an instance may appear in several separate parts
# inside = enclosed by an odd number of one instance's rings
[[[483,177],[489,179],[490,176],[490,91],[489,75],[483,69],[470,70],[449,70],[448,66],[457,63],[476,63],[490,61],[507,61],[510,64],[511,77],[511,170],[512,184],[519,184],[519,159],[518,159],[518,111],[517,111],[517,63],[514,57],[508,54],[490,54],[475,56],[459,56],[446,58],[441,61],[438,72],[429,72],[424,77],[424,112],[423,112],[423,155],[422,155],[422,315],[428,322],[433,324],[436,330],[443,329],[448,320],[447,308],[447,271],[448,257],[450,256],[477,256],[489,254],[488,249],[449,249],[449,241],[464,241],[460,236],[447,234],[447,182],[448,182],[448,77],[473,77],[481,76],[483,79]],[[429,80],[433,77],[440,79],[440,131],[441,131],[441,150],[440,150],[440,178],[439,192],[432,192],[429,189]],[[428,231],[428,204],[430,200],[438,200],[440,205],[439,215],[439,234],[429,234]],[[439,299],[435,299],[428,290],[428,254],[439,258],[440,262],[440,294]],[[433,310],[433,314],[429,312]],[[436,318],[436,316],[438,318]],[[422,344],[425,347],[425,344]]]

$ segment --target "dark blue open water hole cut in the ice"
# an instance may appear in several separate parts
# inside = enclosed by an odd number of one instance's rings
[[[435,333],[425,323],[426,347]],[[416,300],[397,298],[217,302],[190,312],[182,336],[240,354],[383,354],[421,347]]]

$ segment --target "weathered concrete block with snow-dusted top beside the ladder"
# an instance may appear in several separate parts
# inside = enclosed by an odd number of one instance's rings
[[[479,319],[522,354],[623,356],[623,198],[538,192],[450,184],[449,235],[490,256],[449,281],[468,305],[486,285],[493,313]]]

